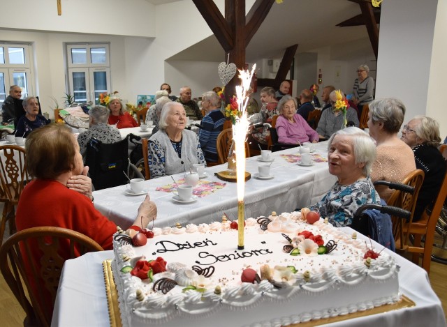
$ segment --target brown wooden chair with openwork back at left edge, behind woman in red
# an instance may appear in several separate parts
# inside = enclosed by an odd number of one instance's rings
[[[6,221],[10,234],[15,230],[15,210],[29,176],[25,150],[17,145],[0,146],[0,202],[4,203],[0,224],[0,244],[3,241]]]

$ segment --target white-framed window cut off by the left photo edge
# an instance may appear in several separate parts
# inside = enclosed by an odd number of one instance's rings
[[[10,44],[0,41],[0,105],[6,99],[9,88],[22,88],[22,98],[32,94],[29,44]]]

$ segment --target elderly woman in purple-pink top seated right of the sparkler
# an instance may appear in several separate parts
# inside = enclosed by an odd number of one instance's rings
[[[295,98],[291,96],[284,96],[279,101],[278,111],[281,114],[276,125],[278,142],[290,144],[318,142],[318,133],[296,113],[296,107]]]

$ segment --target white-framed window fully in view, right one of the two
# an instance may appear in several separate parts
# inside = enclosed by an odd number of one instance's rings
[[[75,102],[98,103],[110,93],[109,44],[67,45],[68,85]]]

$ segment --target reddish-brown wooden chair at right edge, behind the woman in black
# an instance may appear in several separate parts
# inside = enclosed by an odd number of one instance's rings
[[[441,152],[446,152],[446,147],[441,146]],[[434,201],[433,208],[425,208],[422,218],[417,222],[411,222],[404,225],[404,231],[414,236],[413,245],[409,245],[408,251],[413,253],[413,262],[419,264],[419,259],[422,255],[422,268],[430,273],[431,256],[434,242],[434,231],[441,214],[444,201],[447,197],[447,174],[444,176],[438,196]],[[425,241],[422,244],[423,236]]]

